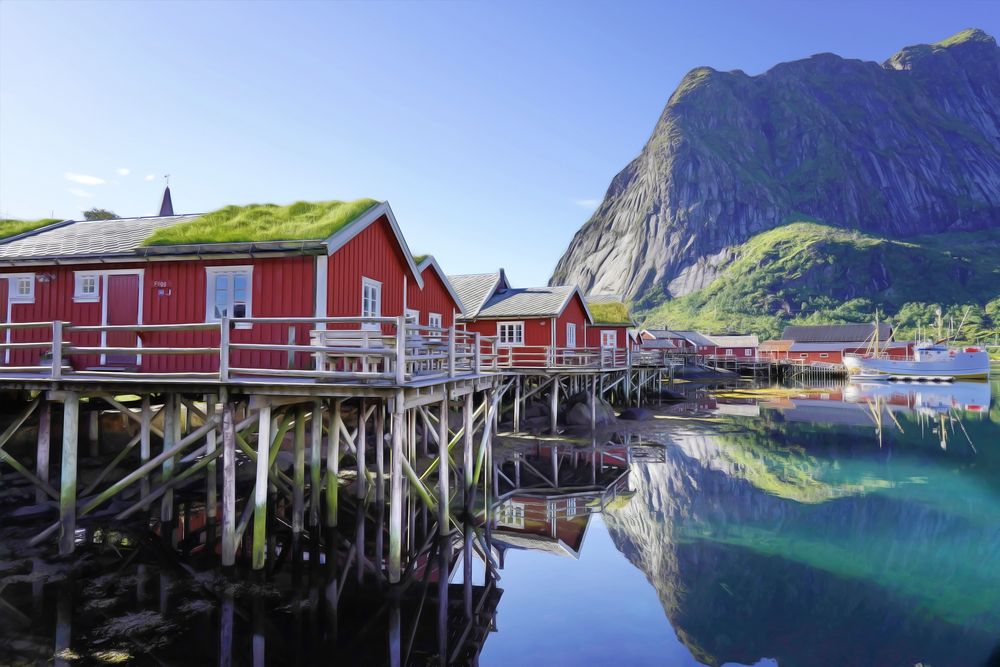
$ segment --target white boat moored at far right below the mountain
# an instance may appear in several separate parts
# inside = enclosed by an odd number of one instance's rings
[[[851,376],[875,376],[884,379],[987,380],[990,357],[981,347],[949,347],[926,343],[917,347],[912,359],[890,359],[875,355],[844,355],[844,366]]]

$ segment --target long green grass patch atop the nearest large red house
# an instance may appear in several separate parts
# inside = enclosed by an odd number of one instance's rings
[[[155,231],[143,245],[322,240],[377,205],[374,199],[226,206]]]

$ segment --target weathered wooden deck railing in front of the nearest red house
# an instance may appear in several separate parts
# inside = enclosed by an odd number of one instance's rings
[[[29,340],[11,340],[12,338]],[[0,324],[0,375],[406,384],[495,370],[491,341],[405,317],[224,318],[143,325]],[[11,341],[11,342],[8,342]],[[59,341],[54,344],[53,341]],[[18,363],[11,363],[11,356]],[[181,357],[178,359],[178,357]]]

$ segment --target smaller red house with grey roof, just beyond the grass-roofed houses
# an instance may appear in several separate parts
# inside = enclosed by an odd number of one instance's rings
[[[470,332],[495,338],[498,363],[510,367],[582,366],[599,362],[586,345],[593,324],[579,288],[514,288],[503,269],[449,276]]]

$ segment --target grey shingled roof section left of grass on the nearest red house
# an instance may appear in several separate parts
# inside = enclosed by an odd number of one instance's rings
[[[165,218],[77,220],[53,225],[38,233],[0,241],[0,260],[133,255],[142,242],[157,229],[196,217],[198,216],[175,215]]]

